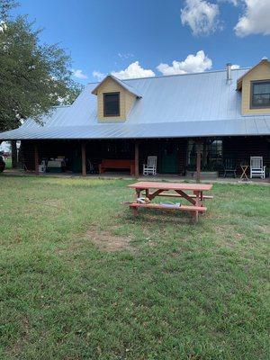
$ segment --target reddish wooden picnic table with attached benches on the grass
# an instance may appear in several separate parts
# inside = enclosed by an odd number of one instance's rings
[[[173,184],[173,183],[157,183],[157,182],[138,182],[130,184],[128,187],[135,189],[135,201],[130,203],[130,209],[134,215],[138,214],[139,208],[162,209],[188,211],[192,214],[193,220],[198,221],[199,213],[205,212],[207,208],[203,205],[204,200],[212,199],[211,195],[204,195],[203,192],[210,191],[211,184]],[[139,203],[137,199],[140,193],[152,201],[157,196],[184,198],[189,202],[188,205],[172,206],[169,204],[158,204],[154,202]]]

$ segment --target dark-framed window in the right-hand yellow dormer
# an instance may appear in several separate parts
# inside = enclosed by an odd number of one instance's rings
[[[270,81],[251,83],[251,108],[270,107]]]

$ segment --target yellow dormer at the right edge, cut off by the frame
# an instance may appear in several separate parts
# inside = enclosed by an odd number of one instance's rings
[[[238,78],[242,92],[242,114],[270,113],[270,62],[263,58]]]

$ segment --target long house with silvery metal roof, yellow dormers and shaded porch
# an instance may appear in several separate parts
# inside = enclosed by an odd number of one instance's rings
[[[72,105],[52,109],[42,125],[28,119],[1,140],[22,140],[23,162],[36,173],[41,160],[59,157],[83,175],[103,159],[130,159],[139,175],[148,156],[157,156],[159,174],[221,173],[226,158],[239,172],[251,156],[269,168],[270,62],[128,80],[108,75]]]

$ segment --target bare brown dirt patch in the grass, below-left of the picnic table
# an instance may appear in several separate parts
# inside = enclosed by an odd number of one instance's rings
[[[98,231],[98,229],[89,229],[84,238],[89,238],[94,245],[101,248],[103,251],[113,252],[121,250],[133,250],[130,241],[131,236],[120,236],[113,234],[113,228],[105,231]]]

